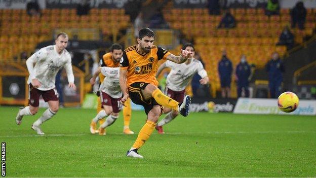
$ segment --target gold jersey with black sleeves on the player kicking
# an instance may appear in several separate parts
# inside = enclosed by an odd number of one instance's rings
[[[156,46],[145,55],[137,52],[136,45],[127,48],[120,61],[121,68],[127,70],[127,86],[134,82],[146,82],[157,86],[158,82],[155,78],[157,62],[166,59],[169,54],[167,50]]]

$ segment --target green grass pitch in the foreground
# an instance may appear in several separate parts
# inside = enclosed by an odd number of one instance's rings
[[[107,135],[92,135],[95,110],[60,109],[36,135],[26,116],[15,124],[17,107],[0,107],[0,139],[6,142],[7,176],[316,176],[315,116],[191,113],[153,132],[139,150],[125,156],[137,134],[124,135],[120,116]],[[132,112],[138,132],[144,112]]]

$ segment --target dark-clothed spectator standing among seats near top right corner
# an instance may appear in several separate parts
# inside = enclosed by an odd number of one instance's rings
[[[304,29],[304,23],[306,20],[306,8],[303,2],[297,2],[295,7],[291,10],[292,28],[295,28],[296,24],[299,29]]]

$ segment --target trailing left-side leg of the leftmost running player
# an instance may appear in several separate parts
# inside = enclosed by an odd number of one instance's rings
[[[33,86],[30,84],[28,89],[29,105],[25,108],[21,107],[19,109],[19,112],[15,118],[17,125],[21,124],[23,116],[35,115],[38,112],[39,96],[41,96],[41,93],[39,93],[39,91],[36,88],[33,88]]]

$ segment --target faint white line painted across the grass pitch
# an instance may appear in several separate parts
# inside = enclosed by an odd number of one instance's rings
[[[316,133],[316,131],[254,131],[254,132],[247,132],[247,131],[226,131],[226,132],[169,132],[165,133],[167,135],[194,135],[194,134],[251,134],[251,133]],[[39,136],[86,136],[92,134],[46,134],[46,135],[5,135],[0,136],[0,138],[11,138],[11,137],[39,137]],[[98,134],[96,134],[98,135]],[[124,135],[124,133],[110,133],[108,136],[111,135]]]

